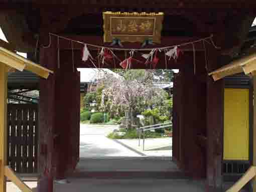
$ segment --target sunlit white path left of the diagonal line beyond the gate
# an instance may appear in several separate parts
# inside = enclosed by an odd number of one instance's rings
[[[140,157],[141,154],[130,150],[106,136],[118,126],[80,125],[80,158],[107,158],[107,157]]]

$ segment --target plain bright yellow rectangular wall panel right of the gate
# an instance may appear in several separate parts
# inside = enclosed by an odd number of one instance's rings
[[[224,160],[249,159],[249,90],[224,92]]]

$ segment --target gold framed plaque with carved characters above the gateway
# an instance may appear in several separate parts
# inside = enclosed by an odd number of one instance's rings
[[[104,42],[144,42],[152,39],[161,43],[164,13],[103,12]]]

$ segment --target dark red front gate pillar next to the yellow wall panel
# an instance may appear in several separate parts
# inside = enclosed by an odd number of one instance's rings
[[[208,70],[218,69],[220,54],[213,48],[208,52]],[[214,82],[207,77],[206,85],[207,128],[207,191],[221,190],[221,161],[223,151],[224,81]]]

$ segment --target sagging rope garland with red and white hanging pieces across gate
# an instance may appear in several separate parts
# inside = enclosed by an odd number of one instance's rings
[[[151,48],[151,49],[150,48],[147,48],[147,49],[146,48],[125,49],[125,48],[113,48],[113,47],[104,47],[104,46],[87,44],[87,43],[84,43],[84,42],[79,42],[79,41],[75,41],[75,40],[72,40],[72,39],[69,39],[69,38],[58,36],[58,35],[52,34],[52,33],[49,33],[49,40],[50,40],[49,45],[46,46],[46,47],[43,47],[43,48],[51,47],[51,43],[52,43],[51,42],[51,36],[56,36],[57,40],[58,40],[57,42],[59,42],[59,39],[65,39],[65,40],[68,40],[68,41],[71,42],[73,65],[74,65],[73,43],[82,44],[83,45],[82,58],[81,58],[82,61],[83,62],[90,61],[95,68],[102,68],[104,64],[109,64],[111,62],[115,63],[116,61],[119,61],[119,65],[123,69],[130,69],[131,66],[133,64],[136,64],[136,63],[140,63],[140,64],[144,64],[144,65],[150,65],[149,68],[156,69],[157,65],[160,62],[160,57],[165,57],[165,66],[166,66],[166,68],[168,68],[168,61],[170,61],[171,59],[174,60],[174,61],[177,61],[181,57],[181,54],[184,54],[182,52],[182,49],[181,49],[182,46],[192,45],[193,56],[194,56],[194,58],[193,58],[194,73],[196,73],[196,58],[195,58],[196,57],[196,54],[195,54],[196,49],[195,49],[195,44],[196,43],[203,43],[204,44],[206,42],[206,43],[211,44],[215,49],[220,49],[220,48],[215,46],[215,44],[212,40],[213,36],[203,38],[203,39],[199,39],[199,40],[192,41],[192,42],[188,42],[188,43],[183,43],[183,44],[180,44],[180,45],[173,45],[173,46],[167,46],[167,47],[158,47],[158,48]],[[209,42],[207,40],[209,40]],[[114,43],[119,45],[120,41],[118,39],[115,39]],[[153,42],[147,40],[147,43],[145,43],[145,46],[148,45],[148,44],[151,44],[151,43],[153,43]],[[59,43],[58,43],[58,46],[59,46]],[[89,49],[98,50],[97,58],[94,59],[91,56],[90,51],[89,51],[87,46],[89,46]],[[204,49],[205,49],[205,45],[204,45]],[[123,56],[125,56],[124,57],[125,59],[123,60],[123,59],[118,58],[115,55],[115,51],[119,51],[119,53],[123,52]],[[128,58],[126,57],[127,52],[130,53],[130,57],[128,57]],[[120,55],[119,53],[118,53],[118,56]],[[136,53],[136,56],[135,56],[135,53]],[[138,60],[138,58],[139,58],[138,54],[140,55],[141,58],[144,59],[144,61]],[[137,59],[135,59],[135,58],[137,58]],[[59,53],[58,53],[58,60],[59,60]],[[96,67],[96,65],[94,64],[93,61],[97,62],[98,67]],[[101,66],[100,66],[100,63],[102,64]],[[207,63],[206,63],[206,67],[207,67]]]

